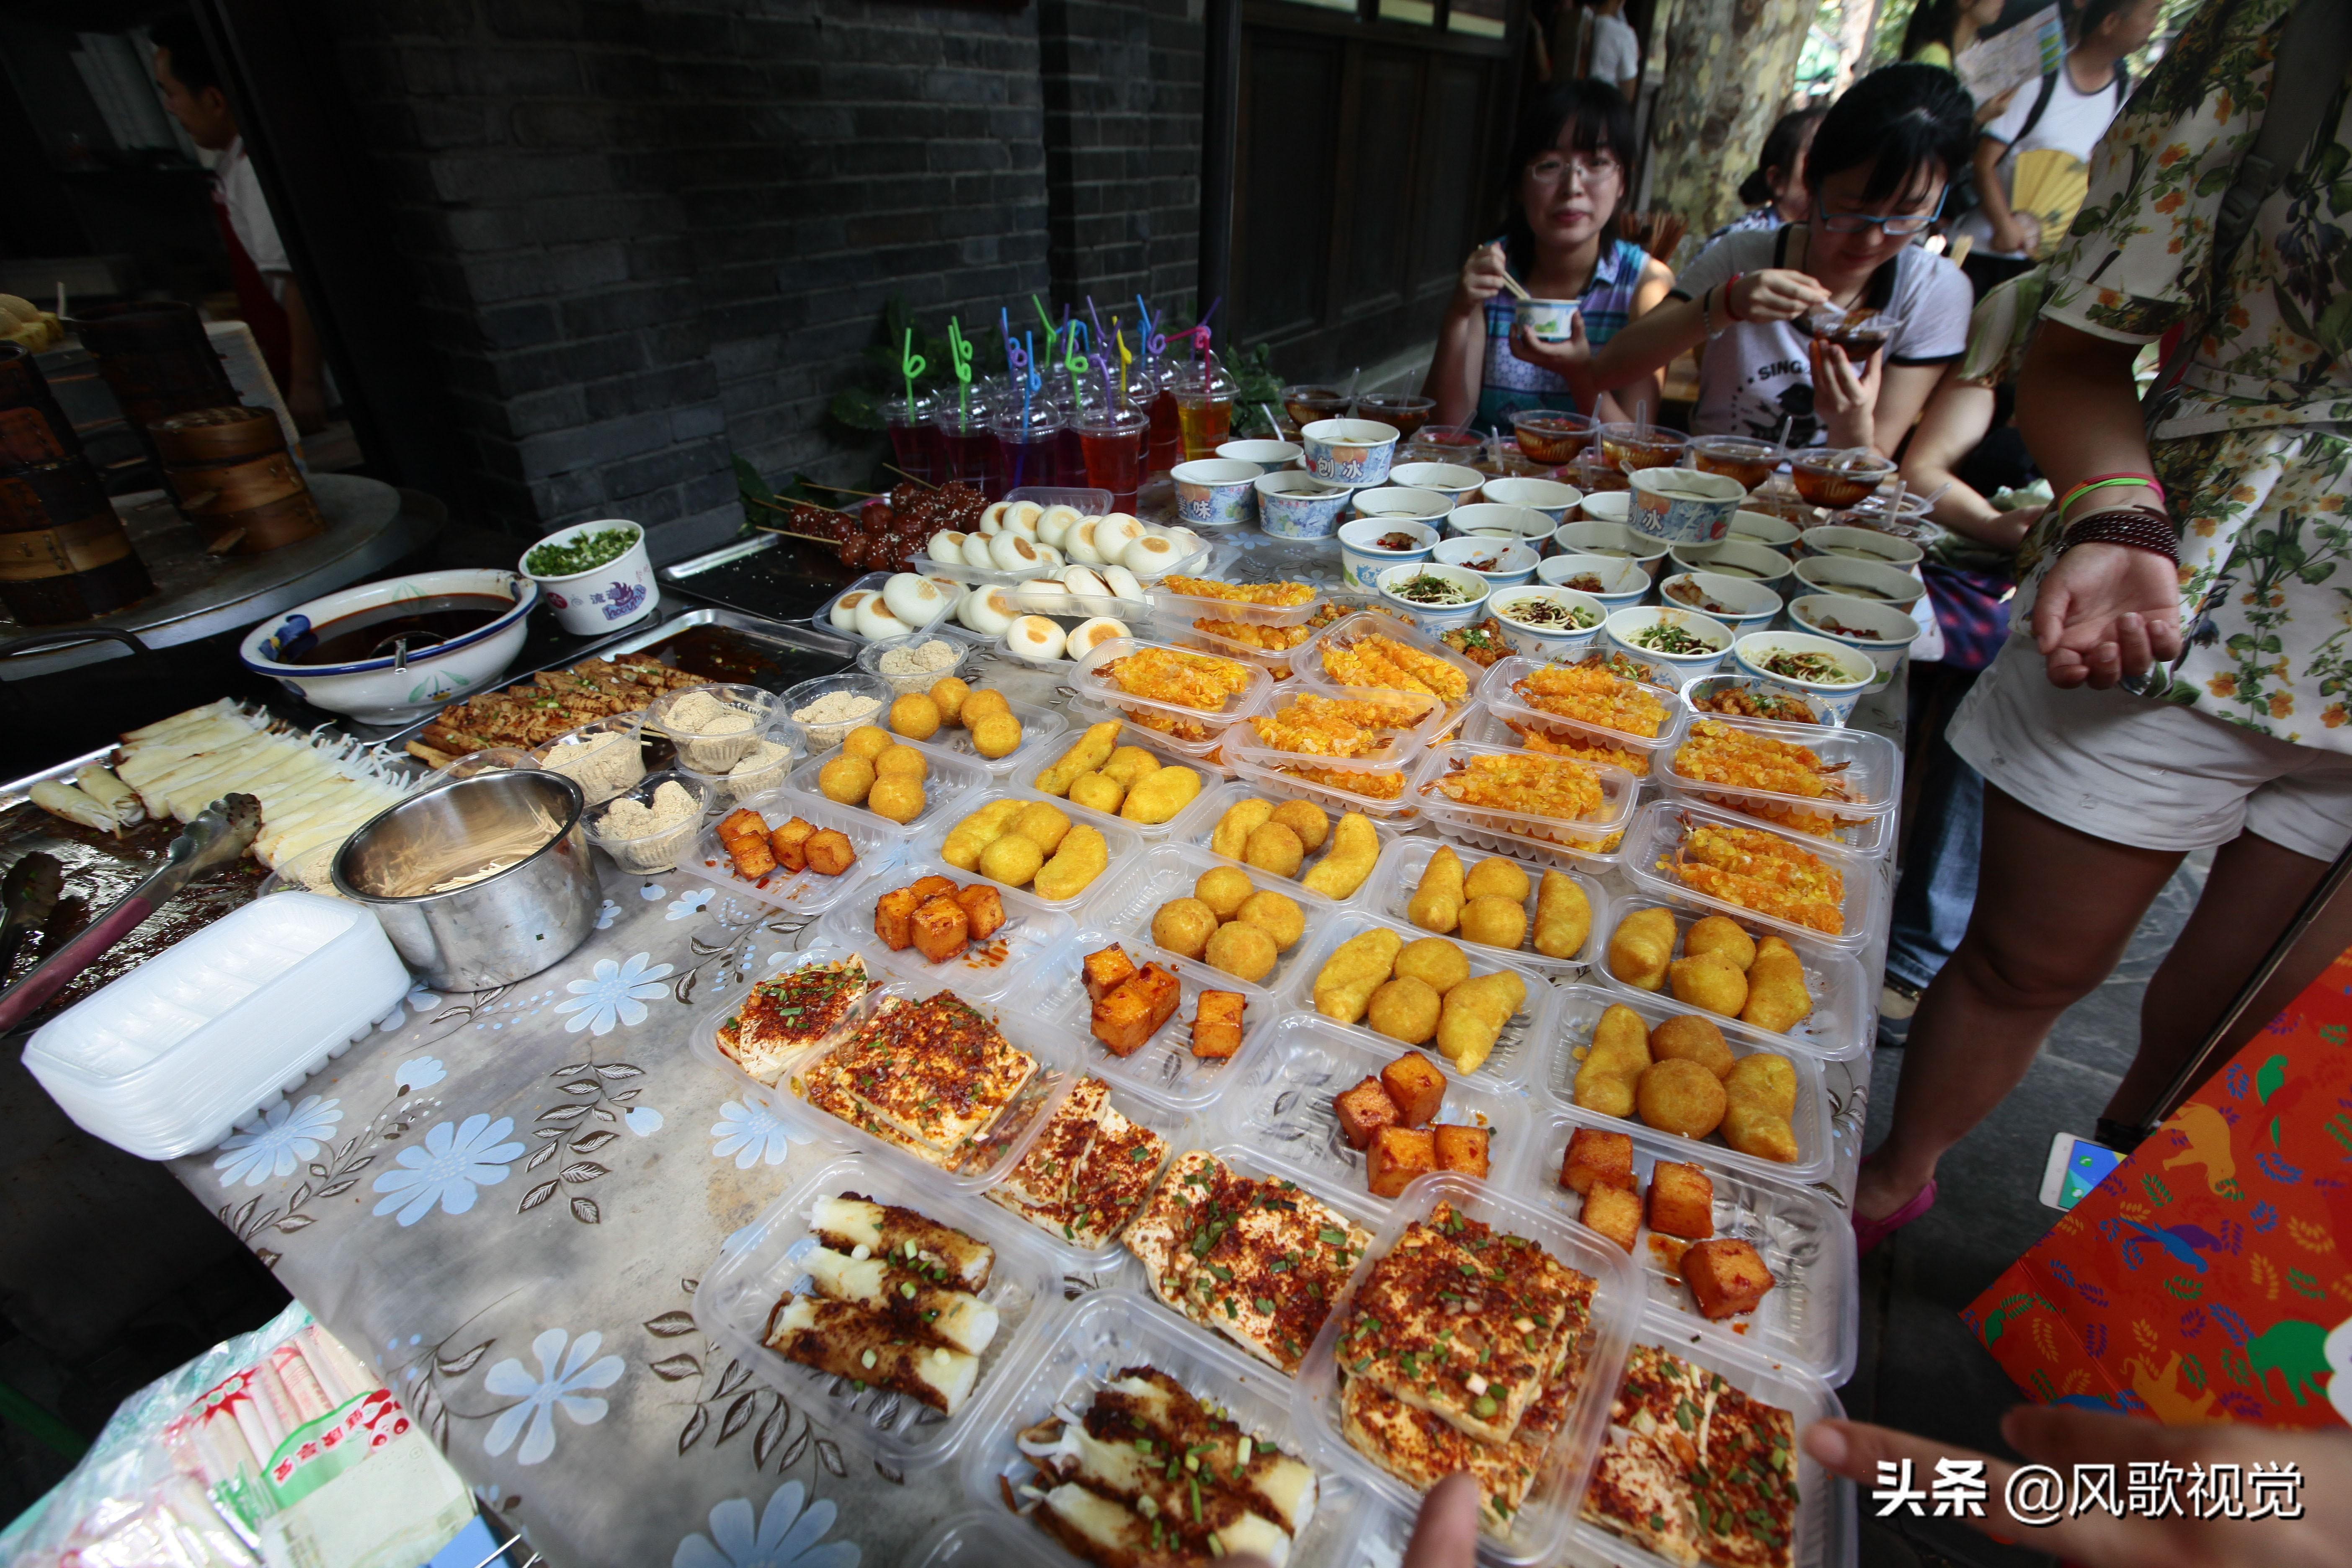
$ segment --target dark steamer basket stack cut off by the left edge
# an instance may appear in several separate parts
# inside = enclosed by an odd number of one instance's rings
[[[68,625],[155,592],[33,355],[0,343],[0,604]]]

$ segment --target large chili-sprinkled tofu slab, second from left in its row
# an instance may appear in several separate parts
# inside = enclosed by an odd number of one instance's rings
[[[795,1086],[809,1105],[953,1171],[1035,1074],[1037,1058],[985,1013],[938,992],[884,999]]]

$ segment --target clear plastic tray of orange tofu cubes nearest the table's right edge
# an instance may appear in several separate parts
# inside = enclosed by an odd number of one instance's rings
[[[1588,1110],[1552,1107],[1536,1119],[1524,1161],[1510,1173],[1510,1190],[1550,1206],[1583,1225],[1583,1197],[1559,1185],[1576,1128],[1623,1133],[1611,1117]],[[1658,1161],[1700,1166],[1715,1182],[1715,1234],[1750,1241],[1773,1288],[1755,1312],[1708,1321],[1691,1300],[1677,1262],[1689,1246],[1649,1227],[1649,1175]],[[1802,1366],[1830,1387],[1853,1375],[1863,1319],[1863,1293],[1856,1284],[1853,1220],[1818,1187],[1755,1175],[1717,1159],[1717,1150],[1691,1147],[1689,1138],[1635,1128],[1635,1192],[1642,1199],[1642,1232],[1635,1237],[1632,1262],[1649,1288],[1651,1312],[1675,1314],[1677,1328],[1710,1340],[1736,1340]]]

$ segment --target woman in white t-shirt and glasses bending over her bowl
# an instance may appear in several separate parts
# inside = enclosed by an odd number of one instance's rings
[[[1665,306],[1606,343],[1519,334],[1512,348],[1583,393],[1653,376],[1703,346],[1693,435],[1891,451],[1969,343],[1969,280],[1915,240],[1943,212],[1973,141],[1973,108],[1950,71],[1872,71],[1813,132],[1804,223],[1724,235]],[[1806,324],[1844,313],[1891,322],[1860,362]]]

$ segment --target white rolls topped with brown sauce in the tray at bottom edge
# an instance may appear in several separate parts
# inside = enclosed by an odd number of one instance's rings
[[[1308,1465],[1150,1366],[1122,1368],[1084,1413],[1056,1406],[1051,1420],[1021,1432],[1018,1448],[1049,1488],[1037,1523],[1087,1561],[1256,1552],[1279,1566],[1315,1516]]]

